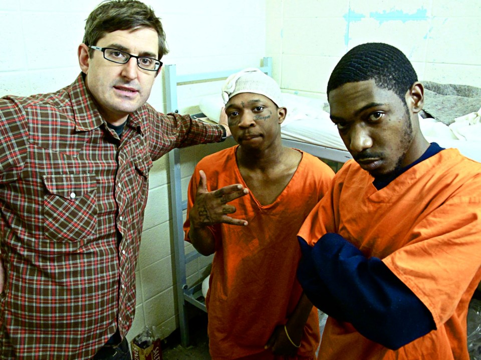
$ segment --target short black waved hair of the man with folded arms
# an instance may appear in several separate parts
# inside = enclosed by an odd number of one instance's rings
[[[367,43],[349,50],[337,63],[327,84],[329,92],[347,83],[374,80],[392,90],[405,103],[405,95],[417,81],[410,61],[397,48],[383,43]]]

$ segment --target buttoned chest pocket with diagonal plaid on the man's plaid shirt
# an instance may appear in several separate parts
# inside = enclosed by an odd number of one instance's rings
[[[97,230],[95,175],[43,176],[45,236],[56,241],[93,237]]]

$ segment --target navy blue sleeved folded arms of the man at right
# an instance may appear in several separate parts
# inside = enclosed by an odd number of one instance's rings
[[[337,234],[324,235],[312,250],[300,241],[299,281],[327,314],[389,348],[435,328],[427,307],[380,259],[366,258]]]

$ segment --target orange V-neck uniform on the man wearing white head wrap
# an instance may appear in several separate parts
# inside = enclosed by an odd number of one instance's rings
[[[246,186],[237,168],[236,149],[209,155],[197,164],[189,184],[188,210],[199,170],[207,176],[209,191],[236,183]],[[303,153],[291,181],[272,204],[261,205],[252,193],[229,203],[237,209],[231,216],[247,220],[248,226],[210,227],[216,245],[206,305],[213,359],[274,358],[271,350],[262,353],[264,345],[275,327],[287,322],[302,294],[296,278],[301,256],[296,234],[328,191],[333,176],[326,164]],[[184,229],[188,234],[188,217]],[[314,358],[319,340],[318,314],[313,308],[298,358]]]

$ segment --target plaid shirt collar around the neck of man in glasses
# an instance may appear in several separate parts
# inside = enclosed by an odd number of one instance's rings
[[[92,131],[102,124],[107,126],[106,121],[99,113],[94,97],[85,85],[84,73],[80,73],[77,79],[75,79],[74,83],[70,87],[69,95],[74,111],[76,131]],[[143,106],[131,113],[128,117],[128,125],[136,129],[143,136],[143,124],[140,121],[142,113]]]

